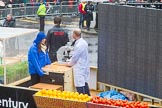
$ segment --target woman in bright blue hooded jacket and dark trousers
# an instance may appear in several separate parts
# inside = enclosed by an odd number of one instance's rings
[[[46,49],[46,35],[39,32],[28,51],[28,66],[32,85],[39,83],[40,77],[45,75],[42,67],[51,64]]]

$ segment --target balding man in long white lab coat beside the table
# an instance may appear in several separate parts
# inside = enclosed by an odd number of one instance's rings
[[[74,50],[68,66],[73,66],[74,84],[77,92],[90,96],[88,80],[90,77],[88,43],[81,37],[81,30],[73,31]]]

